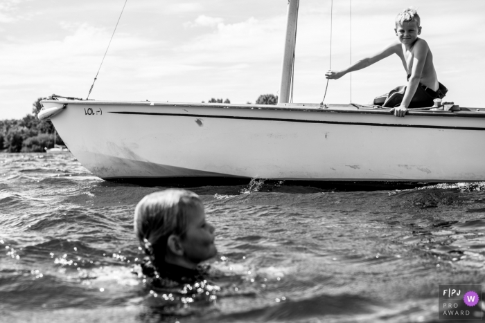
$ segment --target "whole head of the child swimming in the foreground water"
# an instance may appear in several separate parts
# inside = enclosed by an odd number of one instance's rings
[[[186,190],[165,190],[145,196],[136,205],[134,232],[156,266],[195,268],[214,257],[214,227],[205,221],[199,196]]]

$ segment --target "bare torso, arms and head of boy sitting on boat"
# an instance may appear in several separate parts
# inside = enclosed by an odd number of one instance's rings
[[[391,109],[391,112],[394,111],[396,117],[404,117],[418,86],[423,86],[423,90],[427,93],[436,93],[439,90],[430,47],[424,39],[418,38],[418,35],[421,34],[420,20],[418,12],[414,8],[403,10],[396,17],[396,28],[394,29],[398,37],[396,41],[393,41],[380,52],[360,59],[342,71],[329,70],[325,74],[326,78],[337,80],[346,73],[366,68],[385,57],[396,54],[403,62],[408,80],[403,101],[399,107]]]

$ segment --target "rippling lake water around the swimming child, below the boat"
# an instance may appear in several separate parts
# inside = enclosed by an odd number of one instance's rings
[[[484,183],[253,184],[192,189],[216,228],[213,277],[164,290],[136,275],[132,229],[162,187],[107,183],[71,154],[0,154],[0,321],[438,322],[439,284],[485,285]]]

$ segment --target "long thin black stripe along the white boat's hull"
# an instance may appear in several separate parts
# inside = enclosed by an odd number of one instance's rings
[[[195,117],[195,118],[216,118],[216,119],[236,119],[236,120],[321,123],[321,124],[347,124],[347,125],[353,125],[353,126],[371,126],[371,127],[400,127],[400,128],[485,131],[485,128],[478,128],[478,127],[429,126],[429,125],[423,125],[423,124],[385,124],[385,123],[369,123],[369,122],[341,122],[341,121],[301,120],[301,119],[281,119],[281,118],[254,118],[254,117],[242,117],[242,116],[209,116],[209,115],[200,115],[200,114],[129,112],[129,111],[114,111],[109,113],[132,114],[132,115],[141,115],[141,116],[173,116],[173,117],[192,117],[192,118]]]

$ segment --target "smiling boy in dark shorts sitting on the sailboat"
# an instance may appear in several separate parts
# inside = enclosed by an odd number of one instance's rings
[[[329,70],[325,76],[330,80],[337,80],[346,73],[358,71],[379,62],[385,57],[396,54],[403,62],[407,72],[407,86],[398,88],[385,95],[379,102],[376,98],[374,104],[383,107],[392,107],[396,117],[404,117],[408,108],[432,107],[433,100],[443,98],[448,91],[438,82],[433,65],[433,55],[430,47],[421,35],[421,19],[414,8],[407,8],[396,17],[396,36],[393,41],[380,52],[360,59],[355,64],[342,71]]]

